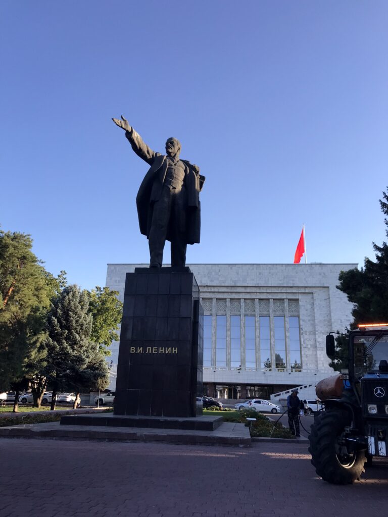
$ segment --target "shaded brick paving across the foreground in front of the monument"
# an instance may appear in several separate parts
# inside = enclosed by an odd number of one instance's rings
[[[0,517],[380,517],[387,485],[388,459],[323,482],[306,444],[0,439]]]

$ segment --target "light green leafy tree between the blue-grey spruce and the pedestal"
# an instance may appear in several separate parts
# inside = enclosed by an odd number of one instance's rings
[[[123,314],[123,303],[117,299],[118,292],[109,287],[96,286],[88,293],[89,310],[93,316],[91,339],[99,345],[99,351],[106,356],[111,355],[109,346],[118,341],[116,332]]]

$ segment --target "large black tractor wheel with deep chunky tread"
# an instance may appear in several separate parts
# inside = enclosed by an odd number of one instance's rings
[[[366,451],[351,450],[344,440],[350,420],[346,411],[332,409],[319,413],[311,425],[311,463],[318,476],[329,483],[353,483],[365,472]]]

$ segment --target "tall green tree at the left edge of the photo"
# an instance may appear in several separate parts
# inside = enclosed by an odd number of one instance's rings
[[[0,231],[0,390],[25,388],[44,363],[49,307],[47,272],[31,236]]]

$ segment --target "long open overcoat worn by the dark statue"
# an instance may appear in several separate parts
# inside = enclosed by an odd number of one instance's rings
[[[125,136],[135,153],[148,165],[151,165],[151,169],[144,176],[136,197],[140,232],[148,238],[151,230],[153,206],[160,199],[162,193],[163,181],[168,169],[168,159],[166,155],[155,153],[148,147],[133,128],[131,132],[126,131]],[[181,160],[181,162],[185,168],[184,186],[187,193],[186,242],[187,244],[194,244],[200,241],[201,202],[199,193],[202,190],[205,178],[196,172],[190,162],[186,160]],[[171,241],[171,237],[172,233],[169,231],[167,240]]]

